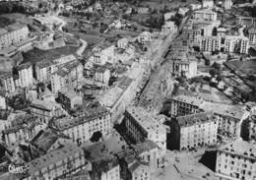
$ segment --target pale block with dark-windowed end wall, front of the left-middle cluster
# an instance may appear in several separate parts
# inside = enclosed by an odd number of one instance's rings
[[[83,78],[84,67],[78,61],[72,61],[61,66],[51,76],[51,90],[58,92],[64,88],[76,88]]]

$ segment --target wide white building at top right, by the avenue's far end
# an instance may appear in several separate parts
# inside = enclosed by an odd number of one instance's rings
[[[202,9],[193,12],[192,18],[204,21],[217,21],[217,13],[210,9]]]

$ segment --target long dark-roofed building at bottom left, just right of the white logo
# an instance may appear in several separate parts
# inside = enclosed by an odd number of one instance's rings
[[[29,172],[25,180],[58,179],[91,168],[91,163],[85,159],[84,150],[69,145],[35,158],[27,165]]]

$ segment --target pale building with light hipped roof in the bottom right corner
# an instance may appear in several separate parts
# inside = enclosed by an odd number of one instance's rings
[[[241,139],[217,150],[216,173],[226,180],[256,179],[256,147]]]

